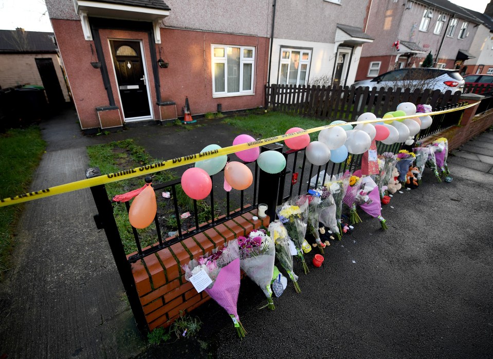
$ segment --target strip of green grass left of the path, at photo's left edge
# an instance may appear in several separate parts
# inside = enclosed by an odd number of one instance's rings
[[[29,192],[35,169],[46,148],[38,126],[11,129],[0,135],[0,197]],[[24,204],[0,209],[0,279],[10,268],[10,256],[15,245],[14,230]]]

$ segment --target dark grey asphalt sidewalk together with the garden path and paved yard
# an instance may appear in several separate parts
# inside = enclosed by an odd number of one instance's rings
[[[218,120],[136,127],[83,136],[75,112],[41,123],[47,152],[31,190],[84,178],[87,145],[124,138],[155,158],[197,153],[210,139],[222,146],[238,130]],[[493,133],[451,153],[452,182],[427,169],[421,186],[397,193],[379,222],[332,241],[321,268],[309,264],[302,290],[291,286],[265,304],[242,281],[236,337],[213,301],[192,314],[197,337],[149,347],[137,332],[89,190],[27,202],[17,227],[14,269],[0,289],[0,355],[8,358],[486,358],[493,357]],[[308,261],[314,250],[306,255]],[[296,260],[295,260],[296,261]]]

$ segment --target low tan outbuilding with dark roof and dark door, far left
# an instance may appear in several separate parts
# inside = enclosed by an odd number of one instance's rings
[[[0,30],[0,88],[45,88],[50,105],[70,101],[52,32]]]

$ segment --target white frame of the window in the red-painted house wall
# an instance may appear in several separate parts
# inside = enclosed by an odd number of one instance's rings
[[[240,49],[240,92],[228,92],[228,48],[239,48]],[[214,56],[214,49],[223,48],[224,56],[217,57]],[[243,50],[252,50],[251,58],[243,57]],[[215,76],[214,76],[214,65],[215,64],[224,64],[224,91],[216,92],[215,91]],[[251,88],[249,90],[243,90],[243,65],[244,64],[252,64],[251,71]],[[238,46],[238,45],[219,45],[212,44],[211,45],[211,73],[212,73],[212,98],[218,97],[232,97],[232,96],[245,96],[245,95],[254,95],[255,85],[253,80],[255,79],[255,47],[253,46]]]

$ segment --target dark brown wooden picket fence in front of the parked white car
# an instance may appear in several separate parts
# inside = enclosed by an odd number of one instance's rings
[[[440,90],[379,89],[349,86],[266,85],[265,104],[274,110],[309,117],[354,121],[363,112],[382,117],[395,111],[401,102],[429,104],[433,109],[454,105],[462,92],[442,93]]]

